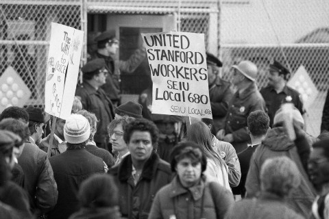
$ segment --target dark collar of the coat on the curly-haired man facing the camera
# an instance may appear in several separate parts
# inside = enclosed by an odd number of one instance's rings
[[[151,180],[158,170],[159,157],[156,153],[152,152],[149,159],[143,166],[142,175],[143,179]],[[132,155],[127,155],[119,164],[118,177],[119,181],[127,181],[132,175]]]

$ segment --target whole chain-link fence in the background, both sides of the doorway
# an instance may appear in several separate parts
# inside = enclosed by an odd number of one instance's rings
[[[308,131],[317,135],[328,90],[328,9],[325,0],[1,0],[0,74],[12,66],[32,92],[25,104],[42,107],[51,22],[87,31],[87,14],[171,14],[176,29],[205,34],[225,79],[240,60],[257,64],[260,88],[273,59],[292,73],[304,65],[319,90],[307,114]]]

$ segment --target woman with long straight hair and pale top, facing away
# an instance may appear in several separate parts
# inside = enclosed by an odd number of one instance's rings
[[[205,174],[214,179],[223,187],[231,190],[228,183],[228,166],[212,148],[212,134],[210,129],[202,121],[193,123],[187,130],[186,139],[202,146],[207,157],[207,169]]]

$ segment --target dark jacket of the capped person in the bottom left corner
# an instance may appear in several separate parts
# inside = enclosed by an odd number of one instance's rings
[[[16,183],[8,181],[0,188],[0,201],[16,209],[21,218],[32,218],[29,211],[29,198],[25,190]],[[2,215],[0,215],[3,218]]]

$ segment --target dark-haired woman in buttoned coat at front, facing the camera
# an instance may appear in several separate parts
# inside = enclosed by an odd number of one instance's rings
[[[234,203],[232,193],[203,174],[204,150],[195,142],[182,142],[171,152],[173,181],[154,198],[149,219],[224,218]]]

